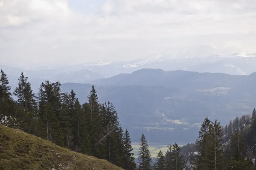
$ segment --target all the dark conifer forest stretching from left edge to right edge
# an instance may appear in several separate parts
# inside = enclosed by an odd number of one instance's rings
[[[22,72],[13,94],[7,75],[0,75],[0,123],[47,139],[78,153],[108,160],[125,170],[255,170],[256,111],[222,127],[204,119],[198,139],[180,147],[170,144],[153,159],[142,134],[138,162],[131,138],[122,129],[111,102],[99,103],[92,86],[88,101],[80,103],[74,91],[61,91],[60,82],[42,82],[38,95]],[[15,99],[14,99],[15,98]]]

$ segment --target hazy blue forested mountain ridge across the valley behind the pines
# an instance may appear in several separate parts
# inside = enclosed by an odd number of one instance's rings
[[[251,113],[256,103],[256,73],[234,76],[143,69],[95,83],[100,102],[113,102],[132,139],[145,133],[150,142],[193,142],[206,116],[228,123]],[[87,101],[90,88],[90,84],[62,85],[64,92],[73,89],[81,102]]]

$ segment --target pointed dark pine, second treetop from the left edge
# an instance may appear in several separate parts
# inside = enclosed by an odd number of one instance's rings
[[[24,76],[21,72],[18,87],[15,88],[13,94],[18,97],[17,105],[21,105],[29,112],[35,112],[36,110],[36,101],[35,94],[31,90],[31,85],[27,82],[27,77]]]

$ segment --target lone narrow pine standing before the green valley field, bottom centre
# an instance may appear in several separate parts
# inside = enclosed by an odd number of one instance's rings
[[[151,154],[148,150],[148,142],[144,134],[142,134],[140,139],[140,151],[139,151],[139,170],[151,170]]]

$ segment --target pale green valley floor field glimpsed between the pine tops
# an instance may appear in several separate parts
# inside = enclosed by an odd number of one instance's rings
[[[148,143],[148,149],[153,158],[157,157],[157,153],[159,152],[159,150],[161,150],[163,152],[163,154],[165,154],[166,151],[168,150],[167,146],[168,146],[168,144],[164,144],[164,143]],[[183,145],[179,145],[179,146],[181,147]],[[134,156],[135,156],[135,158],[137,158],[138,153],[140,151],[139,143],[132,143],[132,148],[134,149],[133,150]]]

